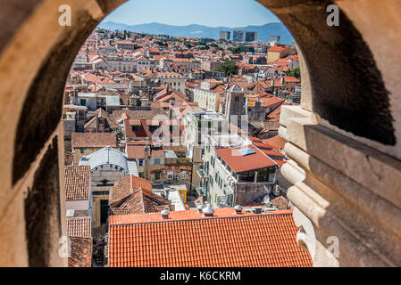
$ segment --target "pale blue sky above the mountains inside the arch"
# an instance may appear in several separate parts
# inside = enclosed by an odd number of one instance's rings
[[[104,21],[242,27],[280,21],[255,0],[130,0]]]

